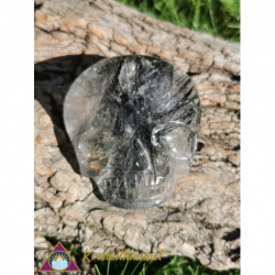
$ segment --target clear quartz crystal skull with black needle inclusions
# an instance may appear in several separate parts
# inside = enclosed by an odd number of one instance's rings
[[[165,201],[197,148],[199,97],[190,78],[147,56],[103,59],[70,87],[64,119],[81,174],[116,207]]]

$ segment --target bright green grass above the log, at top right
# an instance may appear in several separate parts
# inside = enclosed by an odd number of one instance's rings
[[[139,11],[241,43],[241,0],[118,0]]]

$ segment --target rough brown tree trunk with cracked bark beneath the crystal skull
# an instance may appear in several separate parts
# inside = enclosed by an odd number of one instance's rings
[[[197,257],[213,270],[240,267],[240,45],[111,0],[36,0],[33,11],[34,271],[51,246],[38,235],[95,253],[164,250],[163,256]],[[188,73],[202,107],[190,173],[179,177],[170,199],[146,210],[102,201],[96,185],[79,174],[62,117],[64,97],[85,68],[102,57],[133,54]]]

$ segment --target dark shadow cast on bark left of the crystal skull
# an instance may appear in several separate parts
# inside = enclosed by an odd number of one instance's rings
[[[80,175],[75,150],[69,141],[63,120],[65,96],[75,79],[89,66],[103,59],[98,55],[61,56],[33,65],[33,98],[45,109],[53,121],[54,132],[63,156],[75,173]],[[103,200],[96,183],[90,179],[94,194]]]

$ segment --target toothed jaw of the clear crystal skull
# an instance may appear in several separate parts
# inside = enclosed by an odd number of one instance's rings
[[[103,175],[95,174],[95,169],[87,170],[80,165],[82,176],[94,179],[108,204],[125,209],[146,209],[163,204],[170,197],[178,176],[188,174],[189,168],[189,162],[185,162],[175,165],[165,176],[142,170],[116,177],[108,169]]]

